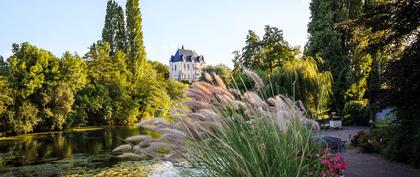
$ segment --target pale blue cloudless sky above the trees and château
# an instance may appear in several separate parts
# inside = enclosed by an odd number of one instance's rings
[[[126,0],[117,0],[125,8]],[[309,0],[141,0],[147,57],[168,64],[182,45],[207,64],[232,67],[232,52],[245,45],[248,30],[283,30],[294,46],[307,41]],[[0,55],[13,43],[29,42],[61,57],[84,55],[101,39],[106,0],[1,0]]]

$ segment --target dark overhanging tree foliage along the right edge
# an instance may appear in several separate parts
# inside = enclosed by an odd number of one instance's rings
[[[393,107],[398,112],[394,124],[385,129],[381,151],[390,159],[412,164],[420,161],[419,18],[418,1],[378,1],[369,3],[366,13],[350,23],[356,30],[369,30],[362,36],[366,53],[389,58],[383,72],[374,75],[378,83],[369,94],[376,100],[375,106]]]

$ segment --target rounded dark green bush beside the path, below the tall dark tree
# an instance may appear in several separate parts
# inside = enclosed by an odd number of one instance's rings
[[[367,100],[349,101],[344,105],[345,125],[369,126]]]

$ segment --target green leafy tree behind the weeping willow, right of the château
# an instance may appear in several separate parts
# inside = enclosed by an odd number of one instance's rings
[[[299,53],[298,48],[291,47],[283,38],[283,31],[269,25],[264,28],[260,39],[254,31],[249,31],[242,51],[234,52],[235,70],[247,68],[272,72]]]

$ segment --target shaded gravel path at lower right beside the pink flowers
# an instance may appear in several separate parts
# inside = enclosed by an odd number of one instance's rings
[[[366,127],[345,127],[343,130],[323,130],[321,135],[339,137],[349,144],[358,131],[368,131]],[[349,147],[344,154],[348,163],[346,177],[420,177],[420,170],[407,165],[390,162],[379,154],[360,153]]]

